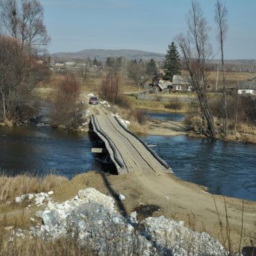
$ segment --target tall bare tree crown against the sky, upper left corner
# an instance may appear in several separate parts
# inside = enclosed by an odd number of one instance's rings
[[[39,1],[1,0],[0,10],[6,32],[20,39],[29,55],[44,50],[50,37],[44,25],[44,8]]]

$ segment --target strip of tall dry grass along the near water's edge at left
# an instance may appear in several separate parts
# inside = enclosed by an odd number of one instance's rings
[[[68,182],[63,176],[48,174],[47,176],[30,176],[21,174],[14,177],[0,176],[0,201],[14,199],[15,196],[28,193],[48,192]]]

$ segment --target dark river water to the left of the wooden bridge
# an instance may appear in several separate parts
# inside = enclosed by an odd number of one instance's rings
[[[91,153],[88,134],[75,134],[48,127],[0,128],[0,167],[8,173],[56,170],[68,178],[89,170],[111,172]]]

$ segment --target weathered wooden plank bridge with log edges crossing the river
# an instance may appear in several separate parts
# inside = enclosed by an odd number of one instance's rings
[[[168,172],[171,168],[143,140],[113,116],[91,116],[93,131],[104,141],[118,173]]]

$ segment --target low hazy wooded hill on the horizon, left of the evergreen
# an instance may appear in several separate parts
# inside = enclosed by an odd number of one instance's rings
[[[74,59],[86,59],[87,57],[97,60],[107,60],[107,57],[126,57],[129,60],[134,59],[143,59],[143,60],[158,60],[162,61],[165,57],[162,53],[151,53],[147,51],[138,51],[138,50],[102,50],[102,49],[86,49],[83,51],[78,51],[76,53],[53,53],[52,57],[60,57],[66,60],[74,60]]]

